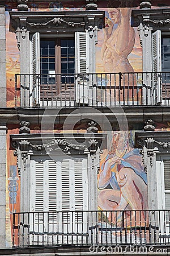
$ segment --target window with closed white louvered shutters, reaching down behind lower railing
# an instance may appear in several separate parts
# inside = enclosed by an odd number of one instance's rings
[[[52,237],[37,235],[41,232],[71,234],[82,232],[82,225],[87,228],[87,214],[83,212],[88,210],[87,158],[78,155],[74,160],[58,155],[54,162],[45,155],[31,156],[30,164],[30,210],[34,212],[30,233],[35,232],[30,241],[50,242]],[[68,242],[73,238],[61,235],[54,239]]]

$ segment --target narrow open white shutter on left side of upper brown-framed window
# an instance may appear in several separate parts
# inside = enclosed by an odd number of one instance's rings
[[[32,36],[32,105],[40,104],[40,33]]]

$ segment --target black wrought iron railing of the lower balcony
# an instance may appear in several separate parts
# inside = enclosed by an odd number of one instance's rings
[[[170,210],[14,213],[12,245],[167,245]]]

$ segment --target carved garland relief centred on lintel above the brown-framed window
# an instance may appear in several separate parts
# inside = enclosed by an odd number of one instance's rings
[[[65,19],[58,17],[58,18],[52,18],[49,19],[47,22],[41,22],[41,23],[31,23],[31,22],[27,22],[27,24],[31,27],[50,27],[50,26],[60,26],[61,24],[66,24],[67,26],[70,27],[82,27],[85,26],[85,22],[67,22]]]

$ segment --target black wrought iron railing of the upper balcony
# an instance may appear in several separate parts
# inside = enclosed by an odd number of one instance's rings
[[[15,106],[169,105],[170,72],[15,74]]]

